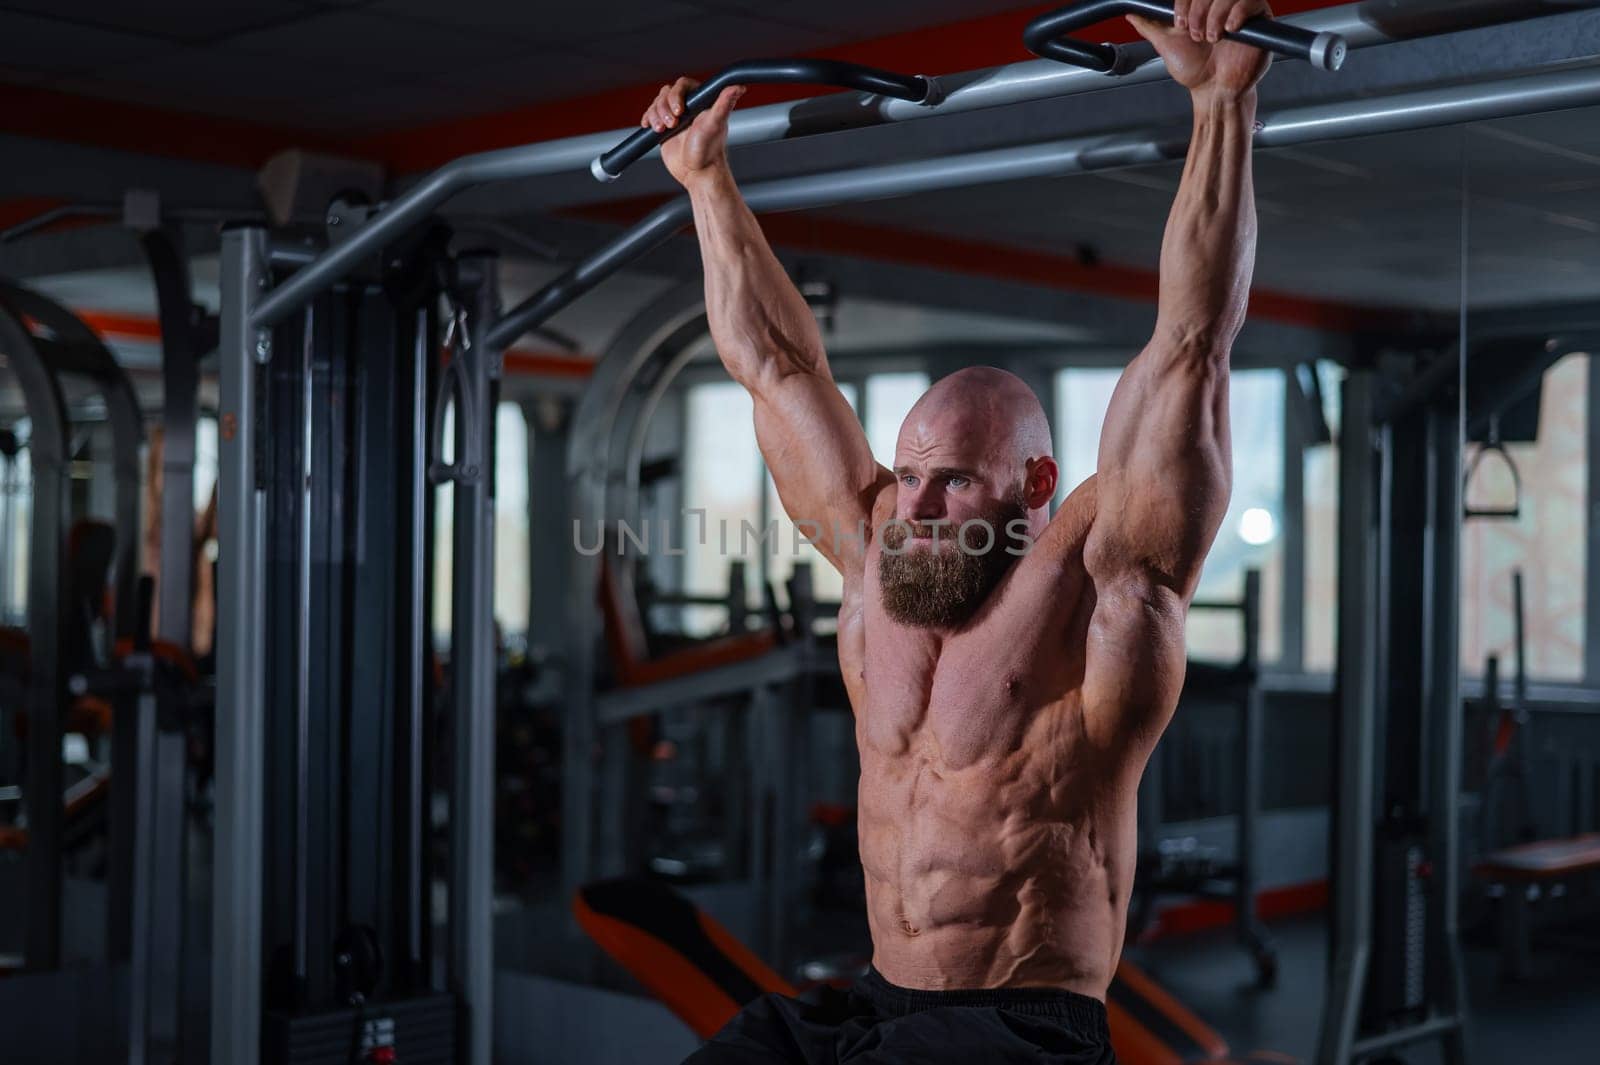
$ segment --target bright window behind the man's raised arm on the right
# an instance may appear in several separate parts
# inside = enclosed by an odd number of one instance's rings
[[[1056,374],[1056,461],[1062,497],[1094,473],[1099,433],[1122,369],[1075,368]],[[1285,379],[1277,369],[1235,369],[1229,390],[1234,438],[1234,496],[1197,600],[1237,600],[1245,571],[1261,571],[1261,657],[1275,662],[1282,648],[1283,606],[1283,408]],[[1234,660],[1243,652],[1237,614],[1192,611],[1189,652]]]

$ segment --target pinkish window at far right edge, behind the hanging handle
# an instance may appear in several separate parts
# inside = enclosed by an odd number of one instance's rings
[[[1469,459],[1477,446],[1467,445]],[[1546,373],[1538,441],[1507,443],[1506,449],[1522,475],[1522,513],[1515,520],[1472,520],[1462,528],[1461,667],[1482,675],[1485,659],[1494,654],[1501,676],[1515,668],[1512,572],[1520,569],[1528,676],[1581,681],[1589,580],[1587,355],[1568,355]],[[1469,502],[1507,502],[1509,481],[1496,485],[1494,475],[1485,462]]]

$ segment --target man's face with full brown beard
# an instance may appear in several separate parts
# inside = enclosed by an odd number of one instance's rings
[[[1018,560],[1021,526],[1008,526],[1029,513],[1021,473],[992,446],[1005,427],[978,421],[914,413],[901,429],[896,521],[882,529],[878,588],[902,625],[963,624]]]

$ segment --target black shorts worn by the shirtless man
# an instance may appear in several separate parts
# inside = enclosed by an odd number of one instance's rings
[[[683,1065],[1115,1065],[1106,1004],[1048,988],[917,991],[867,969],[818,1004],[763,995]]]

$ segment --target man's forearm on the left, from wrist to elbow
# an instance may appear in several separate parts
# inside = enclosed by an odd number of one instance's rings
[[[728,373],[752,390],[770,376],[826,373],[816,318],[733,174],[722,168],[696,179],[690,201],[706,267],[706,313]]]

